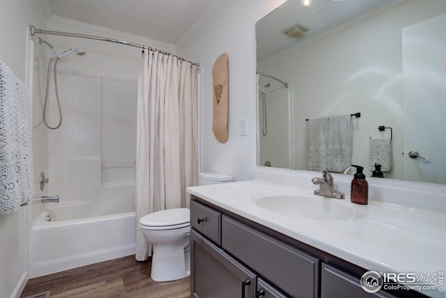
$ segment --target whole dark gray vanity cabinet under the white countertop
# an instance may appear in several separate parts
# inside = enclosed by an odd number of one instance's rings
[[[366,269],[192,198],[192,297],[424,297],[367,293],[360,287]]]

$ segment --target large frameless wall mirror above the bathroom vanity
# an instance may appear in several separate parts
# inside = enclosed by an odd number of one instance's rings
[[[289,0],[256,59],[258,165],[446,184],[446,1]]]

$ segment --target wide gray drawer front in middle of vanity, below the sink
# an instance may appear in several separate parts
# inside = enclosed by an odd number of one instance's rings
[[[222,217],[222,247],[293,297],[318,297],[319,260]]]

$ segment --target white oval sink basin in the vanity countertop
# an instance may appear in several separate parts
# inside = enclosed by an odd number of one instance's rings
[[[337,199],[298,195],[268,195],[255,203],[268,211],[318,221],[345,221],[355,217],[355,209]]]

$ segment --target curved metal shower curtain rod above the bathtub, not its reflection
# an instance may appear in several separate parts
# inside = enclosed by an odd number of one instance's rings
[[[37,29],[33,25],[29,25],[29,31],[31,32],[31,36],[35,36],[36,34],[49,34],[49,35],[59,35],[59,36],[69,36],[69,37],[77,37],[77,38],[102,40],[102,41],[108,41],[110,43],[119,43],[121,45],[130,45],[130,47],[139,47],[140,49],[143,49],[143,50],[149,50],[149,51],[159,52],[160,54],[174,56],[174,57],[177,57],[180,61],[190,62],[190,64],[197,66],[198,68],[200,67],[200,64],[197,62],[192,62],[192,61],[186,60],[184,58],[178,57],[177,55],[171,54],[169,52],[157,50],[154,47],[149,47],[148,45],[139,45],[138,43],[130,43],[129,41],[125,41],[125,40],[118,40],[118,39],[114,39],[114,38],[106,38],[106,37],[102,37],[102,36],[93,36],[93,35],[86,35],[86,34],[79,34],[79,33],[42,30],[42,29]]]

